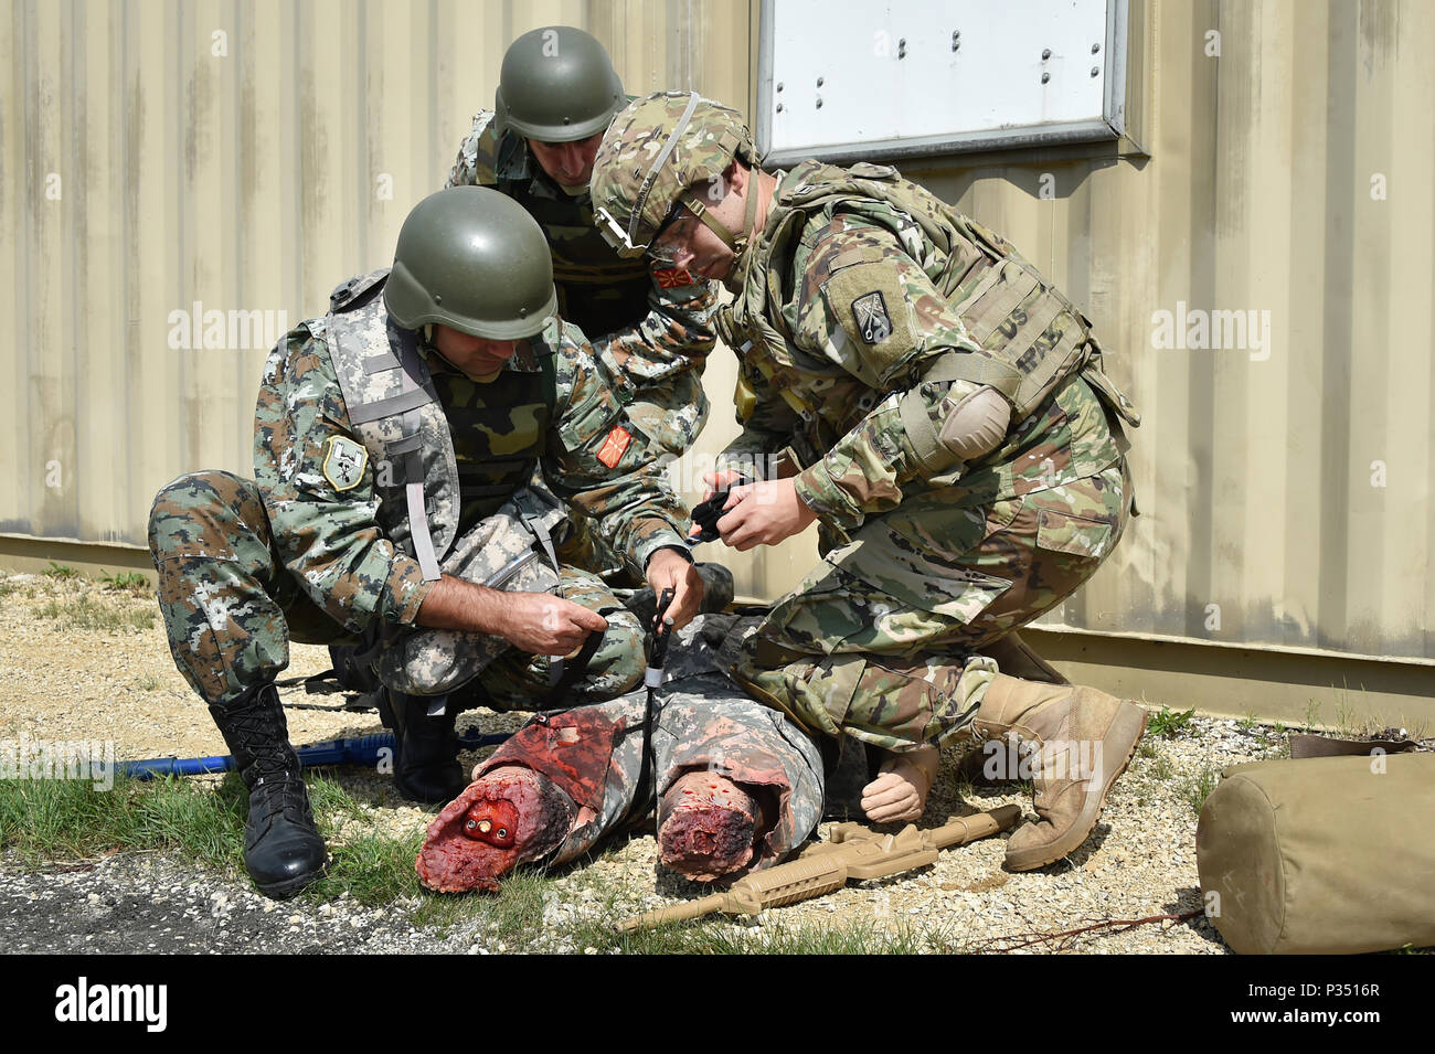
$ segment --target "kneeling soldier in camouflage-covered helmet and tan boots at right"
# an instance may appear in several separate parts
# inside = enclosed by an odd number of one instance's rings
[[[719,333],[742,357],[743,433],[709,476],[732,486],[723,541],[822,526],[822,562],[733,675],[884,751],[874,820],[921,815],[940,744],[1010,737],[1039,820],[1007,866],[1045,866],[1091,833],[1145,711],[979,651],[1111,554],[1129,515],[1121,420],[1137,417],[1086,318],[1003,238],[891,168],[756,162],[735,110],[657,93],[614,118],[591,182],[620,252],[733,291]],[[1033,667],[1023,652],[1003,654]]]

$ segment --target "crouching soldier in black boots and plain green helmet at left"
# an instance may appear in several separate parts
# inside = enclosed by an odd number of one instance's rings
[[[554,558],[570,506],[654,591],[676,589],[679,625],[697,609],[686,509],[657,447],[554,305],[532,218],[494,191],[441,191],[405,221],[392,274],[346,283],[274,348],[255,480],[191,473],[155,499],[171,650],[250,787],[245,863],[265,893],[324,866],[273,685],[290,640],[370,631],[396,779],[448,800],[465,783],[449,693],[479,678],[495,704],[532,707],[560,668],[548,657],[585,644],[564,701],[643,675],[637,619]]]

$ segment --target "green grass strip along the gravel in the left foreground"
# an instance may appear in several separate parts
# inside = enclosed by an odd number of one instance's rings
[[[781,954],[868,955],[924,949],[961,951],[960,935],[907,919],[798,926],[769,912],[761,926],[732,925],[726,916],[670,924],[617,934],[613,924],[633,911],[633,889],[606,882],[593,872],[563,868],[555,873],[518,870],[497,895],[439,895],[419,883],[413,858],[423,829],[403,837],[363,830],[366,810],[337,782],[309,776],[310,802],[330,848],[324,879],[306,889],[310,902],[349,896],[369,906],[399,905],[412,924],[446,934],[458,926],[476,931],[491,948],[542,949],[565,944],[575,952],[636,954]],[[184,779],[149,782],[118,779],[109,792],[77,780],[0,780],[0,850],[32,866],[92,859],[116,850],[172,850],[185,859],[247,882],[243,863],[247,794],[235,774],[214,787]],[[340,825],[349,835],[339,839]],[[563,886],[555,876],[565,876]],[[570,922],[545,921],[545,902],[561,896],[581,902],[587,913]],[[594,911],[596,909],[596,911]],[[534,938],[544,935],[535,946]]]

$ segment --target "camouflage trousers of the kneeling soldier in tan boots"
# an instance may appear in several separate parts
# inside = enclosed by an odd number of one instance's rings
[[[974,652],[1073,594],[1125,531],[1125,462],[970,509],[875,516],[778,601],[733,675],[804,726],[887,750],[959,739],[996,663]],[[920,541],[918,541],[920,539]]]

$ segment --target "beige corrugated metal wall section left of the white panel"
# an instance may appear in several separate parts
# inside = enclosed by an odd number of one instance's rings
[[[4,10],[0,532],[22,535],[142,543],[164,482],[248,472],[268,346],[392,260],[515,36],[583,26],[634,93],[748,90],[746,6],[706,0]]]

